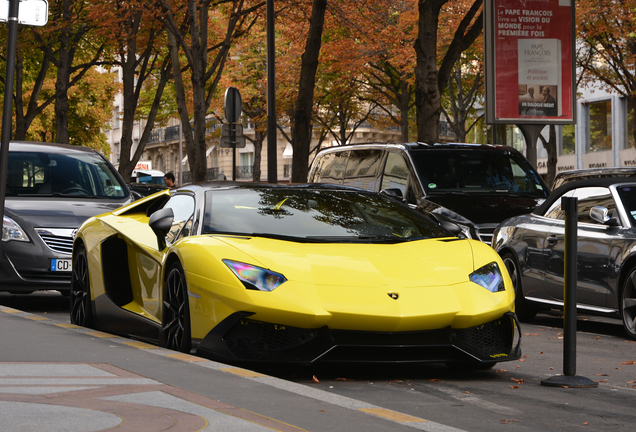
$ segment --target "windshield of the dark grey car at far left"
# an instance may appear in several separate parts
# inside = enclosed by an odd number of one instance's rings
[[[98,154],[9,152],[6,195],[125,198],[126,186]]]

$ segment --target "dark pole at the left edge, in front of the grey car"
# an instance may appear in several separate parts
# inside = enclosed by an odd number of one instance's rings
[[[15,57],[18,48],[19,0],[9,0],[7,22],[7,69],[4,80],[4,106],[2,111],[2,137],[0,137],[0,219],[4,226],[4,199],[7,190],[7,170],[9,169],[9,143],[13,130],[13,79],[15,77]],[[2,241],[0,241],[0,248]],[[0,252],[2,249],[0,249]]]

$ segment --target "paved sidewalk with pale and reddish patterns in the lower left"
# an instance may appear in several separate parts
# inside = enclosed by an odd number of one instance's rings
[[[6,431],[459,431],[4,306],[0,329]]]

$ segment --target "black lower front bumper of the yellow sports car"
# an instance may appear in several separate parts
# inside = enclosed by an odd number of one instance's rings
[[[363,332],[301,329],[249,319],[238,312],[201,341],[197,355],[247,363],[490,363],[521,357],[514,313],[467,329]]]

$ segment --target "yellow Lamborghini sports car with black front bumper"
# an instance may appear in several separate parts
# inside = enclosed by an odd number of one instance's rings
[[[518,359],[506,267],[394,199],[330,185],[165,190],[87,220],[71,322],[226,362]]]

